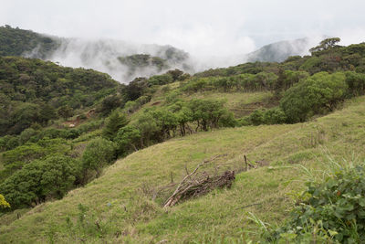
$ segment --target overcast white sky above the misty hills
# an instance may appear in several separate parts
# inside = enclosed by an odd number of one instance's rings
[[[297,37],[365,41],[364,0],[0,0],[0,26],[229,56]]]

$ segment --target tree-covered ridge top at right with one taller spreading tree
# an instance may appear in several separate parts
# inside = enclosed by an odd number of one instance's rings
[[[365,72],[365,43],[353,44],[348,47],[337,45],[339,38],[323,40],[318,47],[311,48],[311,56],[289,57],[282,63],[255,62],[240,64],[235,67],[208,69],[197,73],[194,77],[227,77],[239,74],[257,74],[273,72],[278,75],[279,70],[306,71],[315,74],[320,71],[357,71]]]

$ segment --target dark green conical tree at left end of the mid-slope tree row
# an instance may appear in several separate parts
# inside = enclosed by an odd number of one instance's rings
[[[127,125],[128,122],[128,118],[124,113],[120,114],[119,111],[112,111],[103,128],[103,137],[113,141],[120,128]]]

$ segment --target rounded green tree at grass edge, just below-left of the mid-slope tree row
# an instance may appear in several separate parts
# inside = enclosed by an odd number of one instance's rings
[[[114,143],[103,138],[93,139],[82,154],[82,168],[84,172],[94,170],[99,176],[101,168],[115,159]]]

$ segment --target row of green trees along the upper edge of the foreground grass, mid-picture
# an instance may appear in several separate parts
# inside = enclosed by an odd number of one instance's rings
[[[234,114],[224,108],[224,101],[175,101],[145,109],[132,122],[126,113],[114,111],[103,136],[116,143],[119,155],[126,155],[175,136],[235,125]]]

